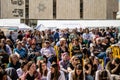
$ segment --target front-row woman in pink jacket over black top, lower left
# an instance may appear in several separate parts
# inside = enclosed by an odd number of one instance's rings
[[[36,71],[35,62],[29,61],[27,63],[27,72],[21,77],[21,80],[41,80],[40,73]]]

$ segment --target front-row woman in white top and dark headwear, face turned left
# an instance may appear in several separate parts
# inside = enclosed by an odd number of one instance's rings
[[[47,80],[65,80],[64,73],[59,71],[58,64],[52,63],[50,71],[47,75]]]

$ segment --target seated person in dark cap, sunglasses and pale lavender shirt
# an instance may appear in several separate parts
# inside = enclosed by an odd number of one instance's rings
[[[48,40],[45,41],[45,47],[40,50],[41,55],[45,55],[46,57],[51,57],[52,55],[55,54],[55,50],[52,46],[50,46],[50,42]]]

